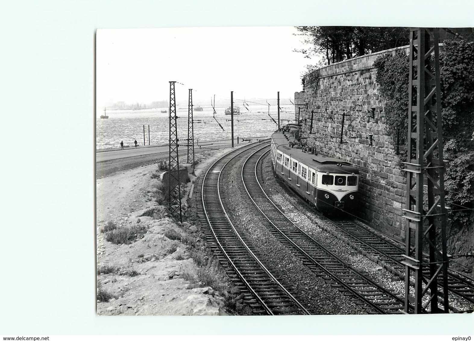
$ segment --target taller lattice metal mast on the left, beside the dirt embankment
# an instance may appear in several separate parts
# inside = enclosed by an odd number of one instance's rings
[[[176,100],[174,92],[175,81],[170,81],[170,153],[169,153],[169,178],[168,178],[168,193],[169,193],[169,210],[172,216],[179,214],[179,219],[182,222],[181,210],[181,182],[179,173],[179,155],[178,155],[178,126],[176,116]]]

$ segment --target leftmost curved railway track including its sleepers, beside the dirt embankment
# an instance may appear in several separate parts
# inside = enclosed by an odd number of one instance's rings
[[[229,207],[226,207],[224,189],[219,182],[222,172],[237,156],[259,148],[261,144],[234,150],[205,171],[198,183],[198,191],[201,192],[198,215],[201,224],[208,227],[208,240],[212,238],[215,241],[210,243],[211,248],[229,277],[240,284],[244,299],[255,314],[310,314],[298,296],[286,289],[257,258],[251,245],[237,232],[228,216]]]

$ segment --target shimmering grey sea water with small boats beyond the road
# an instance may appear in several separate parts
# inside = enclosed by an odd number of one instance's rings
[[[196,108],[197,106],[194,106]],[[225,115],[228,106],[217,106],[215,118],[211,106],[202,106],[202,111],[193,111],[194,141],[211,141],[231,138],[230,115]],[[247,109],[248,108],[248,109]],[[240,115],[234,115],[234,139],[270,136],[277,128],[272,118],[277,120],[276,106],[270,111],[265,105],[248,105],[240,107]],[[294,106],[280,105],[280,119],[285,122],[294,122]],[[161,110],[166,110],[162,113]],[[96,119],[96,149],[119,148],[120,142],[133,146],[164,145],[169,141],[169,108],[142,109],[142,110],[107,110],[108,119],[100,118],[103,112],[97,112]],[[270,112],[270,117],[268,116]],[[180,144],[185,144],[188,138],[188,108],[176,108],[178,116],[178,138]],[[222,128],[219,126],[222,126]],[[148,139],[148,126],[150,134]]]

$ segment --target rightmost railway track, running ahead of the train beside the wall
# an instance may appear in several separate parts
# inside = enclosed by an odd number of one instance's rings
[[[392,272],[402,280],[405,279],[405,266],[401,263],[402,255],[405,253],[403,246],[399,246],[380,235],[373,233],[365,226],[358,224],[353,219],[337,219],[328,218],[315,211],[313,207],[308,205],[304,199],[295,194],[291,189],[287,188],[285,184],[279,181],[285,188],[285,193],[294,199],[300,201],[310,214],[318,215],[320,218],[332,224],[331,229],[320,226],[321,229],[337,237],[339,240],[345,242],[353,249],[365,255],[370,260],[373,260],[383,268]],[[311,216],[307,215],[310,219]],[[427,270],[428,271],[428,270]],[[414,285],[414,283],[411,283]],[[464,300],[465,302],[474,305],[474,282],[471,278],[467,278],[459,273],[448,271],[448,290],[450,295],[456,296],[456,299]],[[442,303],[442,300],[440,301]],[[454,312],[472,312],[473,309],[467,311],[460,311],[454,306],[450,305],[450,309]]]

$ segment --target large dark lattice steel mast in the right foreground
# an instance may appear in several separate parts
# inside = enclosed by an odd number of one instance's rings
[[[437,28],[410,28],[408,149],[405,162],[407,193],[406,206],[402,210],[403,217],[407,219],[403,261],[405,313],[448,313],[445,164],[438,41]],[[423,190],[425,179],[426,191]],[[427,202],[424,201],[424,194]],[[412,274],[414,295],[410,294]],[[442,306],[438,306],[438,299],[442,301]]]

